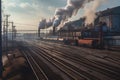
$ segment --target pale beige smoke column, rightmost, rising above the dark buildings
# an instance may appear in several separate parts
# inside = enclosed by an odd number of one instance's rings
[[[105,3],[107,0],[94,0],[91,5],[84,7],[84,16],[86,17],[85,24],[94,24],[96,19],[96,11],[101,4]]]

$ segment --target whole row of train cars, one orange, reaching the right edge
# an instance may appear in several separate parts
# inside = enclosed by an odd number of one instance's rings
[[[79,29],[79,30],[61,30],[59,37],[63,38],[63,42],[69,45],[85,46],[91,48],[106,48],[120,46],[120,32],[110,32],[104,30],[104,26],[100,30]]]

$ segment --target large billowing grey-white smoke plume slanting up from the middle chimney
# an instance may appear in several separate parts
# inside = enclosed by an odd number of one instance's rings
[[[53,26],[57,27],[61,22],[67,21],[73,15],[76,15],[80,8],[93,0],[67,0],[67,5],[64,8],[58,8],[55,11],[55,20]]]

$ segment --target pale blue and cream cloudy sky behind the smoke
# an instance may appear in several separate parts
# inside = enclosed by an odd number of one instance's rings
[[[3,14],[10,14],[9,21],[13,21],[16,28],[20,30],[37,30],[41,18],[52,18],[55,10],[65,7],[66,4],[67,0],[2,0]],[[97,11],[116,6],[120,6],[120,0],[107,0]],[[71,20],[77,20],[83,14],[84,10],[79,9],[77,15],[73,16]]]

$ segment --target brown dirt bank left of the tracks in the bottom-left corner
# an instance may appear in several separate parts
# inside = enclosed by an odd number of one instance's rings
[[[3,55],[3,80],[35,80],[35,76],[19,50],[9,51]]]

